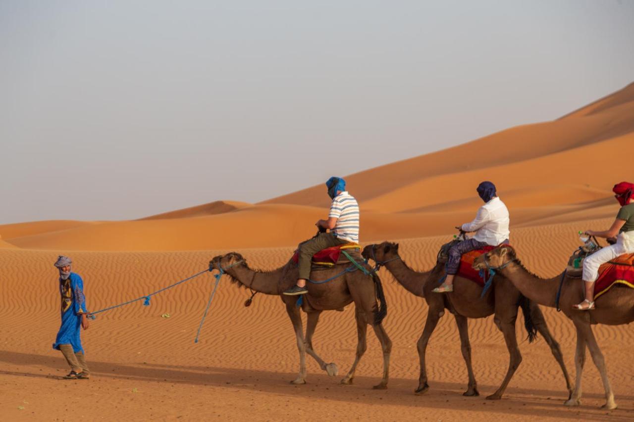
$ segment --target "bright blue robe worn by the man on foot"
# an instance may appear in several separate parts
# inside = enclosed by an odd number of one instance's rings
[[[66,280],[60,279],[61,326],[57,333],[53,348],[60,344],[70,344],[73,351],[84,352],[81,347],[81,316],[87,314],[86,297],[84,297],[84,281],[78,274],[70,273]]]

